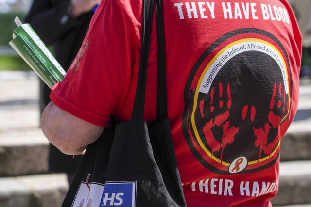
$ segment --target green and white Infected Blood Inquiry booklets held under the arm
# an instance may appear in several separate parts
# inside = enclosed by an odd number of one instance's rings
[[[14,22],[17,28],[9,42],[10,46],[52,88],[55,83],[64,79],[66,71],[29,24],[22,24],[18,17],[15,17]]]

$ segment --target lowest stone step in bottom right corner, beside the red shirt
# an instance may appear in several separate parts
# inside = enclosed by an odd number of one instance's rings
[[[311,204],[311,160],[280,163],[276,206]]]

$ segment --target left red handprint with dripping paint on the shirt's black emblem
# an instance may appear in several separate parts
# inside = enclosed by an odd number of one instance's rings
[[[210,112],[213,113],[215,110],[215,107],[223,108],[224,107],[224,100],[222,99],[223,97],[223,83],[219,83],[219,103],[218,106],[214,105],[214,91],[215,89],[211,89],[211,101],[210,101]],[[239,128],[238,127],[233,127],[231,126],[230,122],[228,121],[230,112],[229,109],[231,108],[232,104],[232,99],[231,99],[231,88],[230,88],[230,83],[227,84],[227,110],[225,113],[219,114],[215,116],[214,118],[210,119],[205,126],[203,127],[203,132],[205,135],[205,138],[207,140],[207,144],[211,147],[212,149],[212,154],[214,152],[221,151],[221,162],[223,161],[223,153],[225,146],[227,144],[231,144],[234,142],[234,136],[238,133]],[[203,113],[203,107],[204,107],[204,102],[200,102],[200,112],[202,117],[204,117]],[[216,140],[212,128],[213,127],[221,127],[222,128],[222,139],[221,141]]]

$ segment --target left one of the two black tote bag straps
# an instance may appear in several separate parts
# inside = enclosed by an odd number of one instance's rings
[[[138,83],[134,100],[132,119],[143,119],[147,81],[147,67],[154,13],[154,0],[143,0],[143,21]]]

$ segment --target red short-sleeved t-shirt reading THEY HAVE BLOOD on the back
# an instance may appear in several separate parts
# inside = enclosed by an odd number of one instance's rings
[[[166,0],[168,113],[188,207],[270,207],[297,110],[301,34],[286,0]],[[103,0],[51,99],[98,126],[131,117],[141,0]],[[155,18],[145,119],[156,114]],[[70,126],[69,126],[70,127]]]

